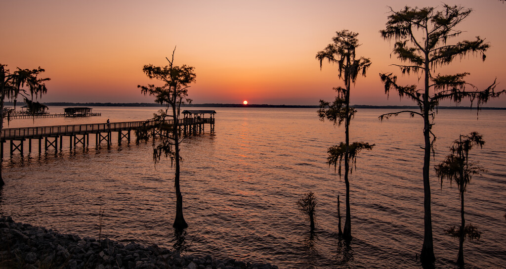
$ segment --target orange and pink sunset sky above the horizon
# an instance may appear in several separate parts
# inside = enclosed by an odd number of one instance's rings
[[[495,78],[506,88],[506,4],[497,0],[447,1],[474,12],[458,26],[458,39],[480,35],[490,43],[487,60],[458,59],[439,72],[470,72],[484,88]],[[352,104],[412,104],[384,93],[379,72],[394,72],[393,45],[378,31],[388,6],[438,6],[426,1],[3,1],[0,63],[14,70],[45,68],[43,102],[153,102],[137,85],[149,80],[144,64],[195,67],[189,90],[194,103],[301,104],[331,100],[342,86],[336,66],[315,59],[336,31],[358,32],[359,56],[370,58],[366,78],[352,91]],[[450,41],[451,42],[451,41]],[[438,72],[438,71],[437,71]],[[405,79],[417,83],[416,75]],[[467,103],[463,103],[467,105]],[[506,107],[506,97],[486,106]]]

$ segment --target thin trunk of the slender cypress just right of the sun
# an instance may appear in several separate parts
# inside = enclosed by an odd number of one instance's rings
[[[345,229],[343,231],[343,238],[346,241],[351,241],[351,212],[350,212],[350,181],[348,180],[348,172],[350,170],[350,73],[348,71],[350,58],[348,56],[347,70],[345,70],[346,81],[346,121],[345,121],[345,134],[346,134],[346,152],[345,152],[345,184],[346,184],[346,219]]]

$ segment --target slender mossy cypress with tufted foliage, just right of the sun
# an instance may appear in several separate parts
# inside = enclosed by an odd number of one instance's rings
[[[351,240],[351,207],[350,207],[350,181],[349,175],[353,171],[353,164],[356,165],[356,156],[362,149],[372,149],[374,144],[369,145],[366,142],[353,142],[350,144],[350,122],[355,117],[355,110],[350,106],[351,85],[355,85],[358,75],[365,76],[367,68],[371,65],[368,58],[356,58],[355,49],[360,46],[357,39],[358,33],[342,30],[336,32],[332,38],[333,44],[329,44],[323,51],[316,54],[316,59],[322,62],[327,60],[329,63],[338,65],[338,78],[345,84],[345,88],[337,87],[334,90],[337,93],[335,100],[330,103],[320,100],[320,109],[318,117],[321,121],[325,119],[333,122],[334,125],[345,125],[345,142],[339,145],[331,146],[328,149],[329,165],[334,168],[339,165],[339,175],[341,176],[341,164],[345,166],[345,185],[346,185],[346,218],[343,230],[343,238]]]

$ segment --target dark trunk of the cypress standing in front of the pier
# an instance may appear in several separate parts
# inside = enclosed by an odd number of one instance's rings
[[[188,224],[185,221],[183,216],[183,195],[181,194],[181,189],[179,187],[179,175],[180,175],[180,164],[179,164],[179,133],[178,133],[178,115],[176,114],[176,107],[173,105],[173,135],[174,135],[174,152],[176,158],[176,173],[174,176],[174,187],[176,188],[176,219],[174,220],[174,224],[172,225],[176,229],[184,229],[188,227]]]

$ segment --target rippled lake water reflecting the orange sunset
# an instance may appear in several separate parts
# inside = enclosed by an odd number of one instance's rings
[[[216,129],[185,140],[181,190],[189,224],[175,234],[173,170],[170,160],[154,166],[150,143],[107,147],[78,146],[7,153],[6,185],[0,190],[0,213],[16,221],[62,233],[135,240],[244,261],[264,261],[280,268],[410,268],[423,243],[423,166],[420,119],[399,116],[379,122],[390,110],[359,109],[351,141],[375,143],[362,152],[350,176],[353,241],[337,236],[337,196],[345,214],[345,184],[325,164],[327,148],[344,140],[343,128],[320,122],[313,108],[214,109]],[[57,113],[61,107],[50,107]],[[102,117],[13,120],[5,127],[137,121],[157,108],[95,107]],[[480,132],[483,149],[472,152],[488,172],[475,176],[466,193],[466,221],[477,224],[479,241],[464,244],[466,268],[504,268],[506,260],[506,110],[439,110],[434,133],[436,156],[459,134]],[[206,126],[208,131],[208,126]],[[35,142],[36,144],[36,142]],[[27,147],[25,146],[25,151]],[[35,150],[36,151],[36,150]],[[437,268],[455,268],[458,240],[443,230],[459,225],[458,190],[432,173],[432,215]],[[304,193],[319,199],[317,230],[297,209]]]

